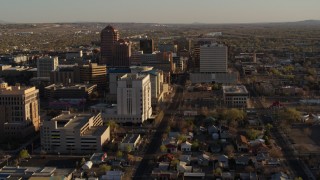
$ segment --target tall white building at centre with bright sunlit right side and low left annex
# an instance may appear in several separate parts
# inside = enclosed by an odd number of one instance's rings
[[[91,112],[102,113],[103,120],[141,124],[152,115],[149,74],[124,74],[117,81],[117,104],[97,104]]]

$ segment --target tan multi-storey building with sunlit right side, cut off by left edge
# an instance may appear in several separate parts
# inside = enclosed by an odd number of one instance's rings
[[[39,130],[39,91],[35,87],[0,85],[0,136],[22,138]]]

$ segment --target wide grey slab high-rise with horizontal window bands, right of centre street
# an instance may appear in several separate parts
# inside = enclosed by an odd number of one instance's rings
[[[200,46],[200,73],[227,73],[228,48],[219,44]]]

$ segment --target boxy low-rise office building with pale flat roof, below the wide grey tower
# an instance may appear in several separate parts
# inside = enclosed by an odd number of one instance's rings
[[[249,92],[243,85],[222,86],[223,100],[227,107],[246,108]]]

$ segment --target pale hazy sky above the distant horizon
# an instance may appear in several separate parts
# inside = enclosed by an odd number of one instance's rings
[[[0,20],[248,23],[320,20],[320,0],[0,0]]]

